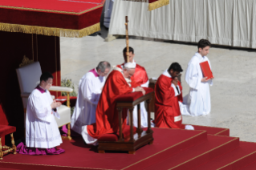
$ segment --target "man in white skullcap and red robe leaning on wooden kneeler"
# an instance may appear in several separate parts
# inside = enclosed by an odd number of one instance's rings
[[[124,95],[132,91],[141,91],[142,87],[134,83],[132,75],[135,72],[135,64],[125,63],[117,66],[108,75],[104,85],[99,104],[96,109],[96,123],[82,127],[83,140],[87,144],[97,144],[97,139],[106,133],[116,133],[119,131],[118,111],[116,110],[115,99],[119,95]],[[126,126],[127,109],[123,110],[123,129]]]

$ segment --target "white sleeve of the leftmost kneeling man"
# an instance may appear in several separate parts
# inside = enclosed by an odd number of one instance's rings
[[[35,115],[37,119],[43,120],[47,123],[51,122],[53,117],[51,115],[51,105],[49,104],[48,106],[44,106],[39,96],[32,95],[29,99],[28,107],[31,108],[33,115]]]

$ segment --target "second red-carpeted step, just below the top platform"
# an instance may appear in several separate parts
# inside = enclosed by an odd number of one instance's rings
[[[161,162],[144,169],[153,170],[157,167],[176,170],[192,169],[196,168],[198,164],[205,164],[238,147],[238,138],[208,135],[204,143],[187,148],[174,156],[165,157]]]

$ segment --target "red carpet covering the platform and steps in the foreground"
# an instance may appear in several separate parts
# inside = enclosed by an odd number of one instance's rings
[[[196,129],[203,127],[196,127]],[[256,169],[256,144],[239,138],[218,136],[226,132],[218,127],[206,131],[152,128],[154,142],[136,151],[97,153],[96,147],[83,144],[80,137],[64,140],[66,150],[58,156],[9,154],[0,161],[0,169]],[[225,135],[225,133],[224,133]],[[251,168],[253,167],[253,168]]]

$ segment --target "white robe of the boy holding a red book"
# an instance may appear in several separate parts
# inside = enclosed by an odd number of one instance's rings
[[[211,111],[211,101],[209,95],[209,85],[213,85],[213,80],[201,82],[203,74],[199,63],[208,61],[206,56],[196,53],[190,59],[187,71],[185,73],[185,81],[189,84],[189,94],[187,100],[184,99],[185,105],[180,103],[182,115],[207,115]],[[209,67],[211,65],[209,63]]]

